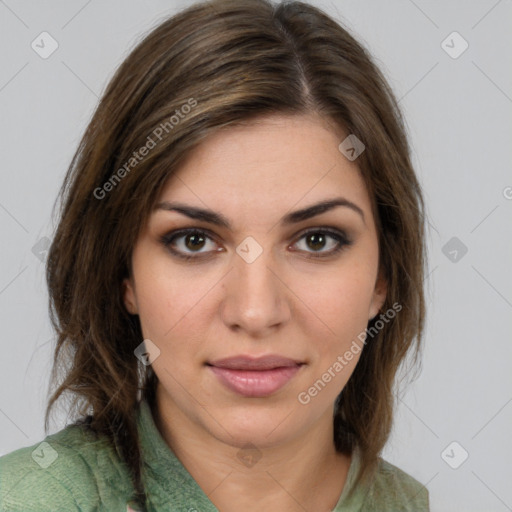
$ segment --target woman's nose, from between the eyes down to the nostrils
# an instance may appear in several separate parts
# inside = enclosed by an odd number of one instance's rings
[[[271,254],[263,250],[248,262],[233,254],[233,266],[224,280],[220,307],[223,322],[230,329],[263,337],[290,319],[291,292],[275,269]]]

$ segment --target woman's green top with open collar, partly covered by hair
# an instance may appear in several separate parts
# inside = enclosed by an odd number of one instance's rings
[[[147,511],[218,512],[160,435],[147,402],[141,403],[137,424]],[[429,510],[427,489],[383,459],[372,483],[347,499],[358,465],[356,451],[333,512]],[[126,512],[133,495],[127,466],[113,447],[82,426],[68,425],[42,443],[0,457],[2,512]]]

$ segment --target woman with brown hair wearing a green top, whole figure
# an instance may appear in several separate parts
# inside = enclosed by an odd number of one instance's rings
[[[267,0],[166,20],[61,197],[46,429],[66,392],[78,420],[0,459],[2,510],[428,510],[380,457],[424,327],[423,199],[345,29]]]

